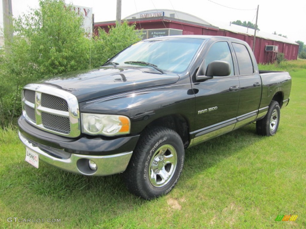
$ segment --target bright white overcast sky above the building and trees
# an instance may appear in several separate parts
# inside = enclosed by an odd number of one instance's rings
[[[27,13],[30,8],[37,8],[39,2],[39,0],[11,1],[14,17]],[[66,0],[66,3],[92,7],[95,22],[116,19],[116,0]],[[278,34],[286,35],[291,41],[300,40],[306,44],[306,1],[303,0],[122,0],[121,18],[144,10],[174,9],[200,17],[207,22],[219,20],[230,23],[241,20],[255,24],[257,5],[259,5],[258,27],[261,31],[267,33],[276,31]],[[0,26],[3,27],[2,4],[0,12]]]

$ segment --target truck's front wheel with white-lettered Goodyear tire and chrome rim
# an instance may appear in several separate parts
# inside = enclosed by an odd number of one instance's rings
[[[124,180],[133,194],[152,199],[167,194],[177,183],[184,165],[181,137],[164,127],[147,129],[132,154]]]

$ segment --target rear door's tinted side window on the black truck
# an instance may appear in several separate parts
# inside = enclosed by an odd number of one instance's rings
[[[247,47],[238,43],[232,44],[237,56],[240,75],[252,75],[254,73],[253,64]]]

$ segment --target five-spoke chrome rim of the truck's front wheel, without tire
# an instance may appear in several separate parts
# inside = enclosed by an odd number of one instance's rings
[[[177,166],[177,152],[171,145],[163,145],[150,161],[149,180],[155,187],[169,183]]]

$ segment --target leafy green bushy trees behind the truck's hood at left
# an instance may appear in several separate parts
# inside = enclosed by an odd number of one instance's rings
[[[64,7],[63,0],[40,0],[14,20],[10,53],[0,49],[0,124],[21,114],[21,89],[50,75],[101,66],[108,58],[137,42],[135,25],[116,24],[110,33],[85,38],[83,19]],[[17,114],[17,115],[16,115]]]

